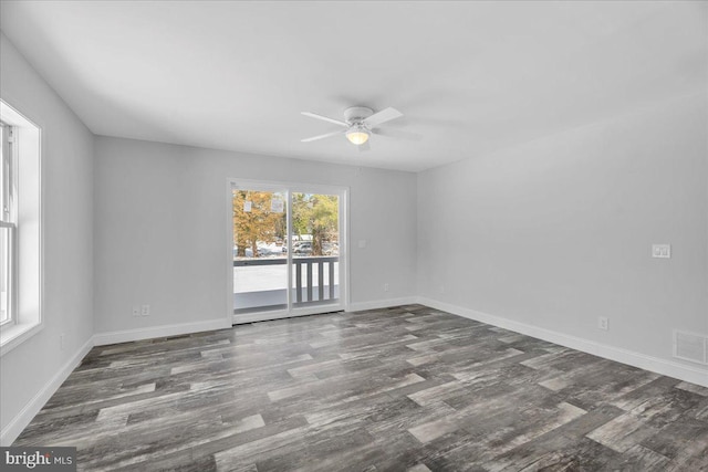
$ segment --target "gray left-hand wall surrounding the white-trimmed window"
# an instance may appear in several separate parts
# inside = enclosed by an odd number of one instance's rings
[[[93,135],[4,34],[0,63],[0,96],[42,128],[44,202],[44,328],[0,358],[4,430],[93,334]]]

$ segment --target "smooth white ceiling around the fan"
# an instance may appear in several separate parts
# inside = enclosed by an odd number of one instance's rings
[[[421,170],[705,91],[708,3],[22,1],[1,28],[98,135]],[[405,117],[360,153],[347,106]]]

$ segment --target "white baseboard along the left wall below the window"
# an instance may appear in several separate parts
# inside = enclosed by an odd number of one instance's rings
[[[46,385],[37,392],[37,395],[28,401],[20,412],[2,429],[0,432],[0,445],[7,447],[12,444],[20,433],[27,428],[32,419],[40,412],[44,403],[52,398],[52,395],[61,387],[71,373],[81,364],[81,360],[88,354],[93,347],[93,337],[76,352],[76,354],[64,364],[59,371],[50,379]]]

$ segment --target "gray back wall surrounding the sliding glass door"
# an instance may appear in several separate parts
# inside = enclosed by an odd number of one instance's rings
[[[352,303],[415,295],[415,174],[110,137],[95,150],[96,333],[226,317],[229,177],[350,187]]]

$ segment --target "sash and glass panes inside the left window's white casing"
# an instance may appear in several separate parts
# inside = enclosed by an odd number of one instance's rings
[[[14,287],[17,281],[17,154],[14,129],[0,122],[0,325],[17,321]]]

